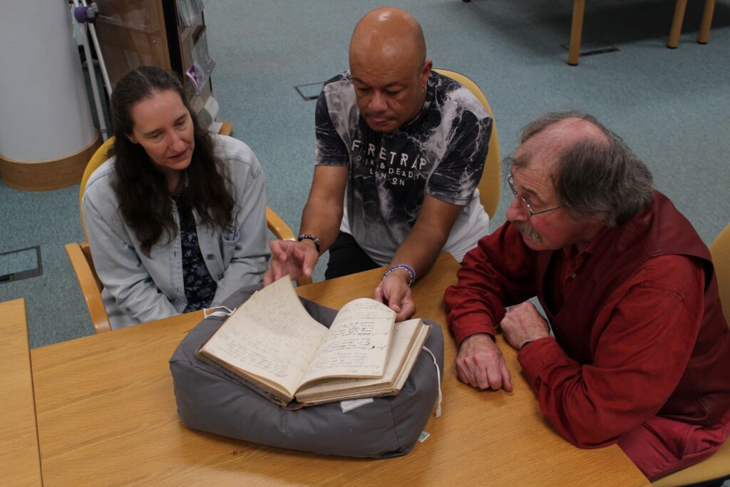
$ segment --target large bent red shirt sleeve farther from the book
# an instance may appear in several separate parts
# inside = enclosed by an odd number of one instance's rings
[[[685,256],[651,258],[599,311],[593,362],[555,340],[518,355],[542,412],[569,442],[596,448],[656,415],[691,356],[704,300],[704,269]]]

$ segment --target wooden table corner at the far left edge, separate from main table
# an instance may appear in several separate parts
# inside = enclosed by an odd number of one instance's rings
[[[0,483],[41,485],[26,302],[0,303]]]

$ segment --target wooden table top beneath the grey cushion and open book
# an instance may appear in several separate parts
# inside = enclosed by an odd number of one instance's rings
[[[413,287],[417,315],[445,323],[458,264],[439,257]],[[340,307],[369,296],[382,270],[299,288]],[[515,391],[458,382],[445,331],[443,416],[407,456],[318,456],[193,432],[177,418],[168,359],[201,312],[32,351],[44,482],[99,485],[648,485],[617,447],[580,450],[556,434],[504,343]]]

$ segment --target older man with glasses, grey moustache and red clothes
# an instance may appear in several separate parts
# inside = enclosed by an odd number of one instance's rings
[[[459,379],[512,390],[499,325],[566,440],[618,442],[650,479],[701,461],[730,434],[730,331],[707,247],[590,115],[545,115],[520,142],[507,223],[446,291]]]

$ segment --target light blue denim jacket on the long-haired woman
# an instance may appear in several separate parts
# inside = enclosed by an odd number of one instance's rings
[[[261,283],[270,253],[261,164],[250,147],[237,139],[214,135],[213,143],[236,202],[232,230],[210,231],[193,210],[200,251],[218,283],[215,306],[241,286]],[[188,303],[177,209],[173,204],[177,237],[169,244],[154,245],[150,256],[145,256],[139,240],[120,216],[111,188],[114,174],[114,158],[93,172],[86,183],[82,210],[94,266],[104,283],[104,304],[112,329],[118,329],[180,314]]]

